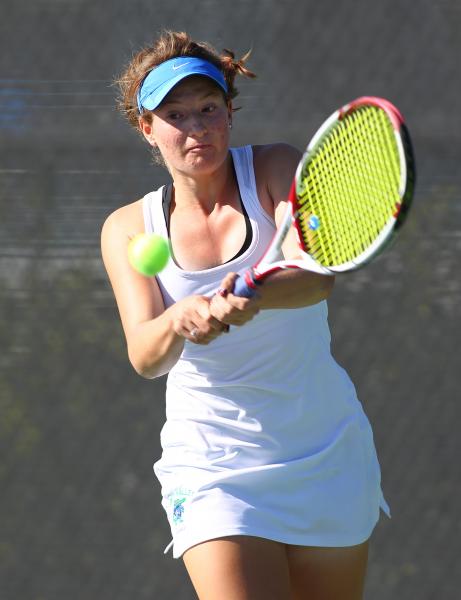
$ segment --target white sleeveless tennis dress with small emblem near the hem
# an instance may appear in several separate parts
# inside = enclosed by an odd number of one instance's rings
[[[203,271],[170,260],[157,276],[166,306],[213,294],[226,273],[253,265],[272,239],[252,149],[231,152],[251,244]],[[146,231],[167,236],[162,188],[143,206]],[[154,471],[175,558],[199,542],[242,534],[350,546],[370,536],[380,507],[389,515],[369,421],[330,353],[325,301],[263,310],[207,346],[186,341],[168,375],[161,443]]]

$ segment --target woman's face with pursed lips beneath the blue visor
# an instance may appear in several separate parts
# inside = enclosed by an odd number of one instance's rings
[[[208,175],[225,161],[231,110],[220,88],[207,77],[187,77],[141,125],[174,176]]]

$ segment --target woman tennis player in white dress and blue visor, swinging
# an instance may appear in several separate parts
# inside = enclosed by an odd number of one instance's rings
[[[285,211],[300,153],[230,147],[236,75],[185,33],[164,32],[130,62],[121,104],[170,183],[116,210],[102,253],[136,371],[168,375],[155,473],[201,600],[357,600],[382,508],[373,435],[330,353],[333,278],[283,271],[256,298],[232,294]],[[127,242],[171,241],[155,278],[137,274]],[[298,246],[288,238],[286,258]]]

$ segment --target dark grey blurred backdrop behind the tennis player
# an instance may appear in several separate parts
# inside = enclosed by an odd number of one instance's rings
[[[459,0],[2,0],[0,598],[194,598],[152,473],[164,380],[128,363],[106,216],[168,175],[112,81],[166,27],[238,56],[235,145],[303,148],[339,105],[389,98],[417,157],[394,247],[337,278],[333,351],[372,422],[392,519],[368,600],[455,600],[460,563]]]

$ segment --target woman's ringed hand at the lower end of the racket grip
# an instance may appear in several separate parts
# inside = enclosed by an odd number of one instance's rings
[[[210,298],[194,295],[171,306],[174,332],[194,344],[206,345],[229,331],[228,325],[211,315],[210,303]]]

